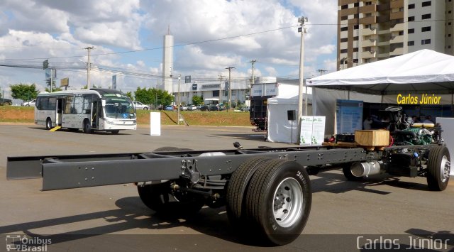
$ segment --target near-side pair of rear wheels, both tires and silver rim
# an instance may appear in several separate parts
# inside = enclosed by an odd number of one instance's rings
[[[294,161],[252,158],[228,183],[226,210],[233,226],[258,241],[283,245],[297,239],[311,210],[306,169]]]

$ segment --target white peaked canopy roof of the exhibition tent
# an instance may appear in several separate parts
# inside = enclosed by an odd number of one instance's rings
[[[454,92],[454,56],[419,50],[306,80],[309,87],[368,94]]]

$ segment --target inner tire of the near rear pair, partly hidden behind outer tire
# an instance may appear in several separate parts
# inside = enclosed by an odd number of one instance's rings
[[[226,212],[231,224],[240,230],[245,227],[245,194],[248,189],[250,179],[260,167],[260,164],[269,160],[267,158],[250,158],[242,163],[233,172],[228,181],[226,193]]]

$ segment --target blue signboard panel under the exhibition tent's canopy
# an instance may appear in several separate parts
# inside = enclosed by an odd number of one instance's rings
[[[336,133],[362,130],[362,101],[336,100]]]

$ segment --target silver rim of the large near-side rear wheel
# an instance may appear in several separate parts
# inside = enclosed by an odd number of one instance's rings
[[[303,209],[303,190],[299,182],[288,177],[279,183],[272,200],[272,212],[279,226],[289,227],[301,217]]]

